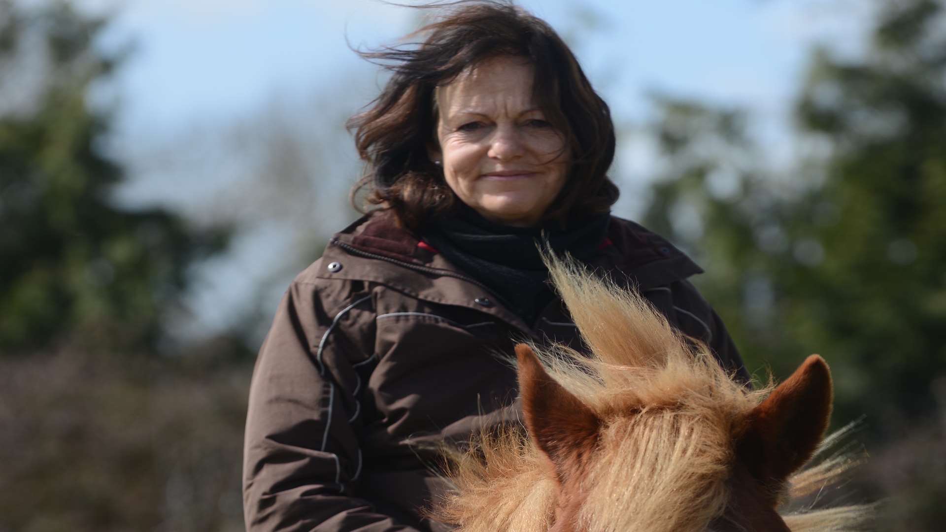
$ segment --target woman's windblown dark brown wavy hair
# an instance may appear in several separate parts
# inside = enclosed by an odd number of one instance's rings
[[[356,50],[392,77],[365,111],[348,120],[366,163],[352,204],[361,212],[372,205],[390,208],[411,229],[450,210],[459,200],[429,159],[428,149],[437,143],[434,91],[474,65],[510,56],[533,65],[534,101],[570,151],[568,179],[543,220],[565,222],[609,211],[618,200],[618,187],[606,175],[615,145],[610,110],[555,30],[506,1],[412,7],[434,9],[433,22],[408,36],[427,35],[426,40]],[[358,205],[362,190],[367,195]]]

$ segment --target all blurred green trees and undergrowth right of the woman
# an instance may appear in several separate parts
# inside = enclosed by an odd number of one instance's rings
[[[848,489],[885,530],[946,520],[946,2],[878,2],[866,56],[817,49],[797,158],[766,166],[738,109],[657,98],[666,159],[644,223],[691,250],[751,371],[812,352],[835,425],[873,456]],[[938,400],[937,400],[938,398]]]

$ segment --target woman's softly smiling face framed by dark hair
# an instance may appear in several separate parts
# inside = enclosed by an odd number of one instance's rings
[[[565,185],[561,133],[532,98],[533,67],[518,58],[478,64],[437,89],[440,161],[453,192],[483,218],[538,222]]]

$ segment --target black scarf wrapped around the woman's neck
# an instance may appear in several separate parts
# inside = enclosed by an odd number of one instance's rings
[[[510,310],[530,326],[554,294],[546,282],[549,271],[538,245],[548,241],[557,255],[571,254],[587,262],[598,253],[610,215],[536,227],[511,227],[489,222],[463,205],[428,223],[422,237],[454,266],[493,290]]]

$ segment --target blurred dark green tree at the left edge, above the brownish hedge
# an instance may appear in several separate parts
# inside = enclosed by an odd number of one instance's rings
[[[104,20],[64,2],[0,0],[0,13],[3,89],[29,97],[0,114],[0,352],[79,329],[153,349],[190,266],[221,251],[227,231],[111,201],[124,180],[102,142],[111,115],[88,103],[118,60],[96,49]]]

